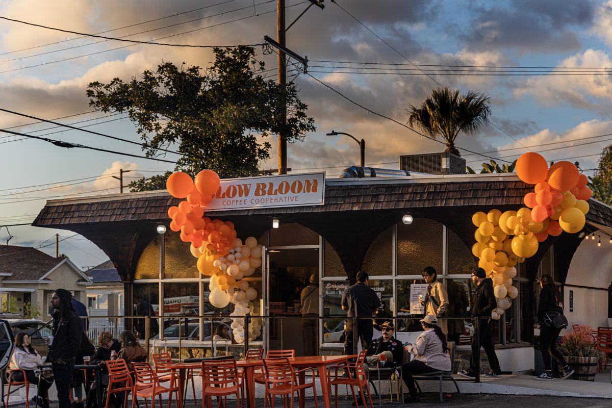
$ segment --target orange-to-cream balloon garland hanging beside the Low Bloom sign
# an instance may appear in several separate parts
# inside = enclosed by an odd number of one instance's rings
[[[261,266],[262,247],[255,237],[237,238],[234,223],[211,220],[204,217],[204,208],[212,201],[221,185],[217,173],[212,170],[199,172],[195,179],[184,172],[174,172],[166,180],[171,196],[185,198],[178,206],[168,209],[172,219],[170,229],[181,231],[181,240],[190,242],[190,251],[198,258],[196,266],[205,276],[210,276],[208,301],[215,308],[225,308],[230,302],[236,305],[231,316],[258,314],[259,305],[253,302],[257,290],[243,280]],[[232,319],[231,328],[236,343],[244,341],[244,319]],[[261,334],[261,319],[253,319],[249,325],[249,339]]]

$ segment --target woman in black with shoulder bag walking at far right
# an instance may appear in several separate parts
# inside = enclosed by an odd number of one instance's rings
[[[540,302],[537,308],[537,328],[540,329],[540,351],[542,351],[542,359],[544,360],[544,373],[535,377],[536,380],[552,381],[553,372],[551,370],[552,357],[563,367],[562,378],[571,376],[574,371],[567,365],[563,354],[557,349],[557,339],[561,328],[554,327],[553,319],[560,314],[563,314],[563,302],[561,300],[561,292],[555,286],[553,277],[550,275],[542,275],[540,278]]]

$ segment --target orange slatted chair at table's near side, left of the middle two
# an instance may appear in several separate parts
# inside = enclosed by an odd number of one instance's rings
[[[236,358],[226,360],[204,360],[202,362],[202,408],[212,408],[212,397],[216,396],[217,407],[227,406],[227,396],[236,395],[238,408],[242,407],[241,384],[236,368]]]

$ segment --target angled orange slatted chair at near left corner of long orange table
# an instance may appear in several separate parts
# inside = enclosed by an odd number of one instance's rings
[[[159,396],[159,406],[163,407],[162,394],[168,393],[168,408],[172,404],[172,393],[176,393],[176,401],[179,400],[179,387],[175,373],[170,374],[170,384],[164,387],[159,384],[160,380],[151,368],[149,363],[132,363],[136,376],[132,392],[132,408],[136,406],[136,398],[144,398],[146,405],[147,398],[151,398],[151,408],[155,408],[155,397]],[[176,405],[176,404],[175,404]]]

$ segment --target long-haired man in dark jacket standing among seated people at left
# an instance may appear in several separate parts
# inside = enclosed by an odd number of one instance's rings
[[[51,295],[51,307],[54,309],[53,338],[50,339],[47,362],[51,362],[58,389],[59,408],[70,407],[72,369],[83,338],[81,319],[76,316],[71,300],[72,294],[65,289],[57,289]]]

